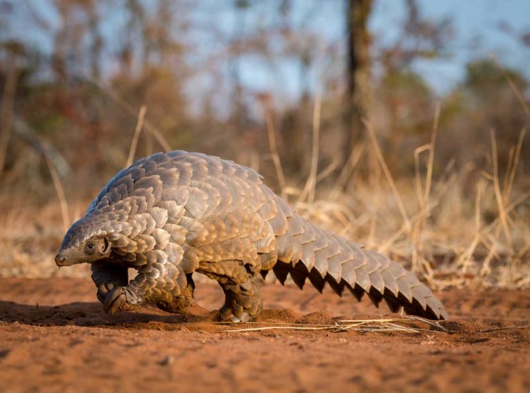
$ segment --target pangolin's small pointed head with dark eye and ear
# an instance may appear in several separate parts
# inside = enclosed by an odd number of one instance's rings
[[[110,256],[108,236],[112,233],[109,221],[84,216],[66,232],[61,249],[55,256],[57,266],[92,263]]]

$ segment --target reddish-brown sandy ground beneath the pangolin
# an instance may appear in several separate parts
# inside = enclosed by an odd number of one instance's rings
[[[334,323],[387,314],[353,297],[263,288],[260,321]],[[188,314],[103,314],[83,279],[0,279],[3,392],[529,392],[530,290],[440,294],[453,333],[222,332],[222,292]],[[239,325],[241,326],[241,325]]]

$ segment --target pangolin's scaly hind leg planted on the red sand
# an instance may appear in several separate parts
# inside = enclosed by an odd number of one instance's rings
[[[254,321],[263,310],[259,276],[241,261],[201,262],[198,272],[218,281],[225,292],[221,321]]]

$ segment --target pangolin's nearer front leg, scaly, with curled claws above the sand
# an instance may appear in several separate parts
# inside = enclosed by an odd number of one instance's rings
[[[179,296],[184,299],[179,300]],[[114,314],[118,310],[156,304],[163,310],[176,312],[190,305],[192,296],[193,282],[188,282],[181,266],[150,263],[143,266],[128,285],[112,289],[105,298],[103,310]]]

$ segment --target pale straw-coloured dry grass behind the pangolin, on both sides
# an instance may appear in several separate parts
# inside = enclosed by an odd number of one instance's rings
[[[309,220],[391,256],[436,288],[529,287],[530,192],[516,177],[524,132],[513,146],[504,181],[493,132],[489,170],[476,171],[471,164],[460,170],[449,166],[432,179],[436,118],[431,142],[409,152],[416,162],[415,177],[392,177],[367,124],[371,141],[356,146],[338,177],[314,164],[303,187],[283,179],[279,192]],[[282,179],[274,140],[274,129],[269,128],[272,154],[259,161],[276,164]],[[314,142],[313,154],[318,155],[318,138]],[[370,163],[368,174],[360,162]],[[71,203],[65,219],[78,219],[89,202]],[[88,276],[86,266],[59,271],[54,265],[64,233],[59,199],[34,205],[3,194],[0,205],[5,207],[0,214],[1,276]]]

